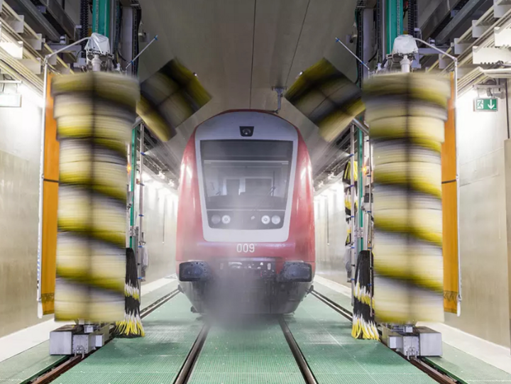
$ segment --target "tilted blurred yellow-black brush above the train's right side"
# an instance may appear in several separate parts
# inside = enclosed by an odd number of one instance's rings
[[[326,141],[338,137],[363,112],[361,96],[361,89],[326,59],[304,70],[285,94]]]

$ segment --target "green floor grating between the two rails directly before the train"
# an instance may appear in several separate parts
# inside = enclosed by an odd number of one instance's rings
[[[243,328],[213,327],[190,384],[304,383],[278,320]]]

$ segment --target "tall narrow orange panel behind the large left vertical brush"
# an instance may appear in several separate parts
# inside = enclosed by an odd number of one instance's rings
[[[55,295],[55,259],[57,253],[57,203],[59,175],[59,143],[57,122],[53,119],[53,98],[48,74],[45,111],[45,164],[43,184],[43,243],[41,262],[41,301],[43,314],[52,314]]]

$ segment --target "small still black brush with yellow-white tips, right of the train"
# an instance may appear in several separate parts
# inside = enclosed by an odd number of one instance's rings
[[[353,328],[351,336],[355,339],[379,340],[378,329],[374,319],[373,297],[371,297],[372,270],[370,251],[361,251],[355,270],[355,291],[353,292]]]

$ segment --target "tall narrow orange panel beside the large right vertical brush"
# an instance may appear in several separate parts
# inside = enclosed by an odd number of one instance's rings
[[[458,194],[456,182],[456,110],[454,81],[445,124],[445,142],[441,148],[442,224],[444,253],[444,310],[456,313],[458,305]]]

